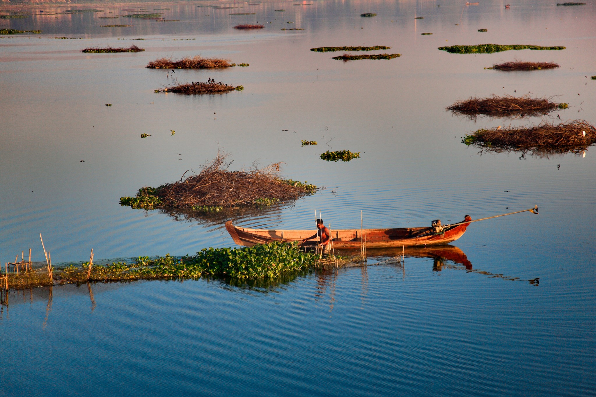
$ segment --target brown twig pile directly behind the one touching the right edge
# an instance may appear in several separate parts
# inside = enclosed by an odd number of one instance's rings
[[[452,112],[474,117],[485,114],[492,117],[512,117],[519,115],[544,115],[555,109],[566,109],[567,104],[556,104],[548,98],[530,98],[529,95],[515,97],[511,95],[490,98],[470,98],[455,102],[447,108]]]

